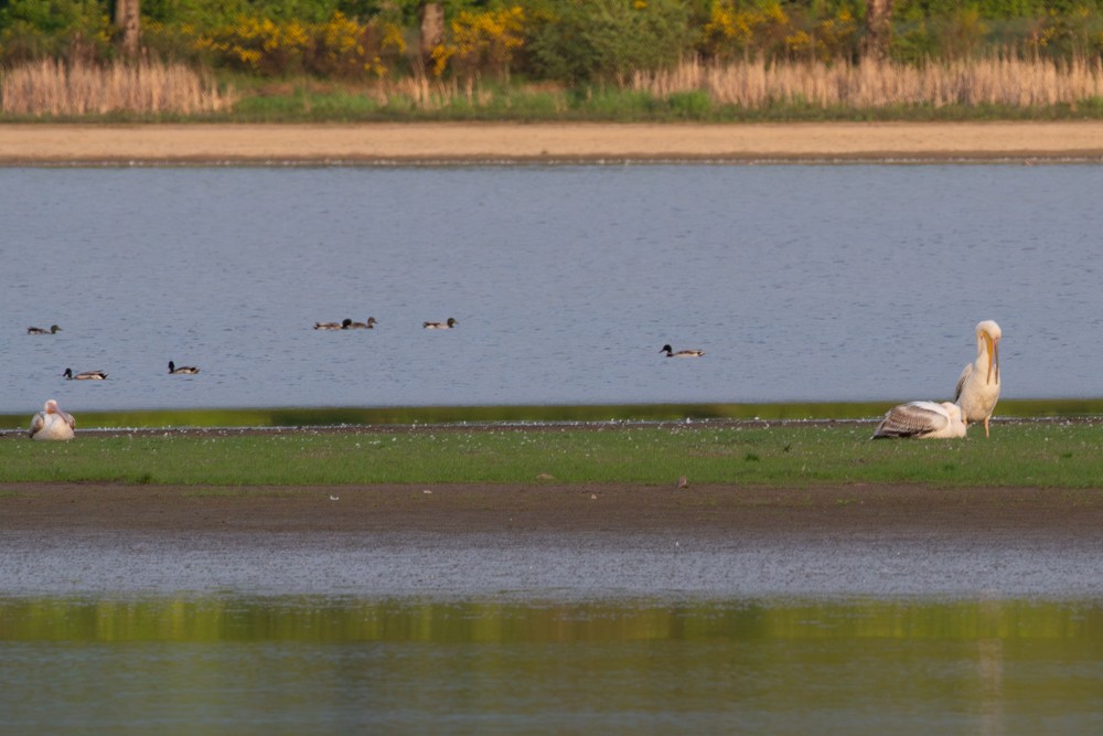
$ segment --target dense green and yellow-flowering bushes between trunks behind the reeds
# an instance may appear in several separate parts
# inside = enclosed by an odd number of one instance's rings
[[[419,0],[142,0],[146,54],[261,76],[622,82],[679,61],[859,58],[861,0],[443,0],[420,47]],[[0,0],[0,62],[113,57],[113,0]],[[977,55],[1094,60],[1103,0],[897,0],[898,62]]]

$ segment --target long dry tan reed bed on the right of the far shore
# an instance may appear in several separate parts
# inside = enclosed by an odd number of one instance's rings
[[[655,97],[705,92],[714,104],[762,109],[777,104],[868,109],[947,105],[1035,107],[1103,98],[1103,62],[992,57],[912,66],[685,61],[667,72],[640,72],[632,88]]]

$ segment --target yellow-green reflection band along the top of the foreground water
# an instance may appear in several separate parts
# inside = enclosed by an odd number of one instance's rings
[[[1103,602],[0,598],[0,640],[8,641],[485,643],[885,637],[1103,643]]]

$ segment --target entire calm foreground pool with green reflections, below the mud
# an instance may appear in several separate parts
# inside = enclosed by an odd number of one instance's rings
[[[1103,601],[0,598],[3,733],[1103,733]]]

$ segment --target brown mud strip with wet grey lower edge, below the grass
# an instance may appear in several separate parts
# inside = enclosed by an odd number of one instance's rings
[[[0,595],[1103,595],[1103,494],[0,486]]]

